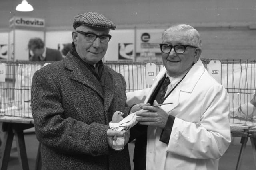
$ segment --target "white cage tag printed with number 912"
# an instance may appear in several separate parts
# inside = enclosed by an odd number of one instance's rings
[[[221,62],[219,60],[212,60],[208,65],[208,72],[221,83]]]

